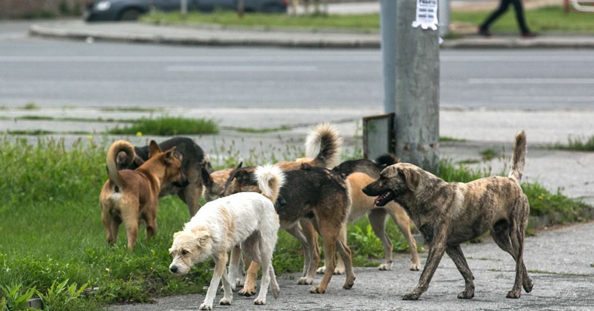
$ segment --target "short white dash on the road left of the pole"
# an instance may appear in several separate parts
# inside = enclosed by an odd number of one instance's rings
[[[310,72],[316,66],[167,66],[169,72]]]

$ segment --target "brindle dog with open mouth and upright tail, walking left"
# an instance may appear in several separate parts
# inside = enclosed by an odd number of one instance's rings
[[[443,179],[409,163],[397,163],[381,172],[380,178],[363,188],[378,206],[396,200],[421,231],[429,254],[419,284],[402,299],[419,299],[428,286],[444,251],[456,264],[465,281],[458,298],[475,295],[474,277],[460,243],[489,232],[495,243],[516,261],[516,280],[507,294],[519,298],[522,286],[532,290],[524,264],[524,236],[529,204],[520,188],[526,158],[526,134],[516,134],[511,172],[508,177],[486,177],[467,182],[445,182]]]

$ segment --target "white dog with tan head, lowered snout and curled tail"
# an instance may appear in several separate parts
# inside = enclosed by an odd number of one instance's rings
[[[265,304],[268,286],[274,298],[279,297],[279,284],[276,283],[272,267],[272,253],[279,230],[279,216],[274,210],[274,202],[285,175],[277,166],[258,166],[255,179],[260,193],[236,193],[205,204],[184,230],[173,235],[173,245],[169,252],[173,262],[169,270],[174,274],[186,274],[197,262],[213,257],[214,274],[200,310],[211,310],[219,281],[223,278],[223,299],[220,304],[233,301],[231,283],[225,273],[227,252],[241,245],[244,254],[262,265],[263,273],[260,293],[254,304]],[[237,267],[229,267],[237,270]]]

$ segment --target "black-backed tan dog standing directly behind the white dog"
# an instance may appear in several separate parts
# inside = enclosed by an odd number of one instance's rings
[[[237,180],[228,183],[225,194],[260,192],[251,170],[240,169],[233,172],[229,179]],[[300,169],[285,172],[285,185],[280,189],[279,197],[284,198],[286,204],[283,206],[277,204],[276,210],[279,214],[280,227],[293,234],[293,229],[299,225],[300,221],[311,222],[324,241],[324,254],[326,254],[324,261],[328,269],[320,284],[312,287],[309,290],[310,293],[321,294],[326,291],[334,271],[336,250],[345,262],[346,281],[343,288],[350,289],[355,283],[350,249],[340,239],[340,229],[346,222],[351,205],[349,188],[349,183],[345,181],[344,175],[327,168],[302,163]],[[302,242],[301,239],[299,241]],[[312,244],[309,245],[309,247],[311,246]],[[311,280],[313,280],[318,260],[319,255],[312,259],[309,267],[306,267],[307,277],[311,277]],[[259,269],[259,265],[252,262],[245,280],[244,292],[255,291],[253,288],[248,288],[248,284],[255,283]],[[305,280],[305,277],[300,280]]]

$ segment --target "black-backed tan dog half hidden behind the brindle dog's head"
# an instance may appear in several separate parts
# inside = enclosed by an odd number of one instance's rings
[[[399,162],[399,159],[396,159],[393,155],[383,155],[378,157],[375,162],[366,159],[345,161],[332,170],[346,175],[350,182],[350,199],[353,204],[350,208],[347,223],[354,222],[366,215],[369,225],[371,225],[375,235],[384,245],[384,263],[378,269],[390,270],[392,268],[393,245],[386,234],[386,217],[390,215],[409,244],[410,270],[418,271],[421,268],[421,262],[419,262],[415,239],[413,239],[410,232],[410,218],[406,214],[406,211],[394,201],[383,207],[375,206],[373,198],[361,191],[363,187],[375,181],[375,179],[380,178],[380,172],[384,168],[397,162]],[[346,226],[343,226],[341,236],[346,243]],[[324,273],[325,271],[326,267],[318,269],[318,273]],[[345,264],[339,257],[334,274],[343,274],[344,272]]]

